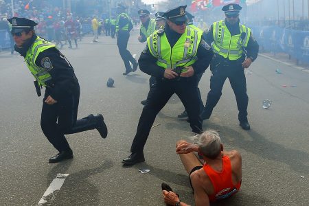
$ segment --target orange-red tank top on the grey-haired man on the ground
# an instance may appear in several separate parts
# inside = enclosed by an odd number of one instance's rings
[[[214,186],[214,194],[209,195],[209,201],[214,202],[233,194],[236,194],[240,189],[241,181],[236,185],[233,185],[231,177],[231,160],[227,156],[222,157],[222,171],[216,172],[214,169],[205,163],[203,169],[206,174],[209,176],[209,179]]]

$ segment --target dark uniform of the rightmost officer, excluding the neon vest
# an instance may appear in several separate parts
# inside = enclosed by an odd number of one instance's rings
[[[232,8],[234,14],[238,14],[241,10],[240,5],[233,4],[233,7],[229,5],[225,5],[222,8],[223,11],[228,11],[229,8]],[[227,13],[227,12],[226,12]],[[239,21],[235,25],[231,25],[225,20],[225,25],[229,29],[231,36],[240,34],[240,25]],[[214,41],[213,36],[214,26],[211,25],[210,29],[203,33],[203,37],[205,41],[211,44]],[[251,60],[255,60],[258,57],[259,45],[253,38],[252,34],[249,38],[249,42],[247,47],[247,58],[251,58]],[[245,60],[246,56],[243,53],[242,58],[238,60],[229,60],[229,58],[224,58],[218,54],[214,54],[214,58],[211,61],[210,70],[212,76],[210,78],[210,91],[207,95],[207,101],[204,108],[203,113],[201,114],[202,119],[209,119],[213,108],[218,103],[223,84],[225,80],[229,78],[229,82],[236,96],[236,102],[238,106],[238,119],[240,124],[247,124],[247,126],[242,128],[249,129],[249,123],[247,119],[247,107],[248,107],[248,95],[247,95],[247,84],[246,77],[244,76],[244,68],[242,67],[242,62]]]

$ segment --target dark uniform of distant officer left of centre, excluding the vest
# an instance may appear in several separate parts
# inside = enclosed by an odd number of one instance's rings
[[[117,8],[122,11],[125,10],[125,7],[123,5],[118,5]],[[119,54],[124,61],[124,67],[126,67],[126,72],[123,73],[124,75],[127,75],[131,71],[136,71],[138,67],[137,60],[133,58],[132,54],[127,49],[128,40],[130,38],[130,31],[122,30],[122,27],[127,24],[130,25],[130,19],[126,18],[126,16],[120,16],[118,21],[117,46]],[[133,65],[133,69],[130,66],[130,62]]]

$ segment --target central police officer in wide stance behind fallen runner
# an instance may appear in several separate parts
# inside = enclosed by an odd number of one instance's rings
[[[186,27],[185,8],[183,5],[165,12],[164,30],[157,30],[147,38],[147,46],[139,58],[141,71],[155,76],[157,83],[149,91],[131,146],[132,154],[122,161],[124,165],[145,161],[143,150],[150,128],[174,93],[185,105],[192,131],[202,132],[196,75],[207,69],[213,52],[201,33]]]

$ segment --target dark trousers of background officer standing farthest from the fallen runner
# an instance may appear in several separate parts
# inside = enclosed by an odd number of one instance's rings
[[[128,47],[128,39],[130,38],[130,33],[128,31],[119,31],[117,36],[117,46],[119,49],[119,54],[124,61],[124,67],[126,67],[126,71],[130,71],[132,64],[135,64],[137,61],[133,58],[132,54],[126,49]]]

